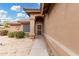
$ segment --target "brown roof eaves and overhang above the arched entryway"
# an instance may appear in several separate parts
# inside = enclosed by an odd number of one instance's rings
[[[29,8],[23,8],[23,10],[30,16],[31,14],[45,14],[48,13],[49,7],[51,4],[55,3],[41,3],[40,4],[40,9],[29,9]]]

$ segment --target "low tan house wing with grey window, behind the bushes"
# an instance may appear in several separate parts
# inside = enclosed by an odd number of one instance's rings
[[[10,32],[13,32],[13,31],[30,32],[30,21],[23,20],[23,21],[10,22],[9,31]]]

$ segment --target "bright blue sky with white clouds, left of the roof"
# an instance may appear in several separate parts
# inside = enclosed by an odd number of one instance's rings
[[[0,3],[0,20],[16,21],[19,19],[27,19],[28,15],[23,8],[40,8],[39,3]]]

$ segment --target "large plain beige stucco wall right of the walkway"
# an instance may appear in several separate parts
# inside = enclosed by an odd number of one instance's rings
[[[52,42],[55,55],[79,54],[79,4],[55,4],[45,17],[44,32],[67,48],[63,51],[63,47]]]

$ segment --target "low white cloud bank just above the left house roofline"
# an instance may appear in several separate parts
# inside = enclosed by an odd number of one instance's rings
[[[26,20],[29,18],[29,16],[24,12],[21,11],[20,13],[16,14],[16,19],[11,18],[11,16],[8,16],[8,12],[5,10],[0,10],[0,23],[3,23],[4,21],[18,21],[18,20]]]

